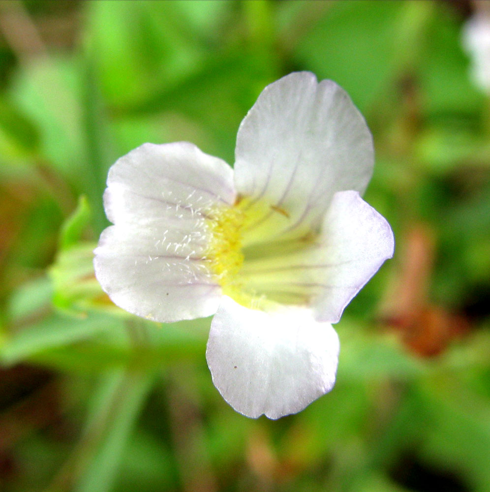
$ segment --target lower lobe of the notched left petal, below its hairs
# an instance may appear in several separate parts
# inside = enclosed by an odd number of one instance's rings
[[[97,280],[114,304],[153,321],[214,314],[221,287],[203,260],[185,259],[165,247],[158,250],[162,227],[105,229],[94,251]]]

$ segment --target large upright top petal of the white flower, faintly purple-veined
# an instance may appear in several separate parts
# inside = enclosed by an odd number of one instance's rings
[[[335,192],[364,192],[372,167],[372,137],[363,116],[335,82],[318,84],[310,72],[267,86],[238,131],[237,191],[251,197],[248,207],[271,205],[256,227],[268,227],[277,211],[289,219],[282,231],[318,224]]]

